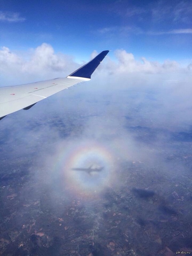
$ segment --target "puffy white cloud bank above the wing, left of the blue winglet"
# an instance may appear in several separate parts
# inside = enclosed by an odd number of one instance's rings
[[[29,55],[27,60],[24,58],[26,55]],[[77,68],[78,65],[72,57],[55,53],[52,46],[45,43],[23,55],[11,52],[7,47],[0,50],[0,71],[3,78],[1,80],[5,85],[67,76],[74,67]]]

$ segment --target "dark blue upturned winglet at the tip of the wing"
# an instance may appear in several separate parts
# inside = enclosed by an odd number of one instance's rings
[[[99,66],[100,62],[105,58],[109,51],[103,51],[98,54],[94,59],[89,61],[83,67],[78,68],[75,72],[70,74],[69,76],[77,76],[77,77],[85,77],[91,78],[92,73]]]

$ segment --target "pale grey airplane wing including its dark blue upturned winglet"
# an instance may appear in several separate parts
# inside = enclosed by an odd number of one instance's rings
[[[38,101],[68,89],[80,82],[89,81],[109,51],[103,51],[94,59],[65,78],[55,78],[31,84],[0,87],[0,120],[20,109],[29,109]]]

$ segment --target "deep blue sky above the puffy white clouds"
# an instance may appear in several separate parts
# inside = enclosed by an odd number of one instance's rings
[[[47,43],[76,60],[108,49],[157,61],[191,59],[190,0],[2,0],[0,24],[0,46],[15,52]]]

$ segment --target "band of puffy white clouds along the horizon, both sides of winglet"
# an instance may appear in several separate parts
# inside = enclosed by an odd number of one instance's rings
[[[92,53],[94,56],[95,53]],[[26,57],[27,56],[27,57]],[[103,72],[122,75],[129,73],[186,73],[190,70],[188,67],[180,67],[180,64],[174,60],[164,60],[164,63],[147,60],[141,57],[136,60],[132,53],[125,50],[115,51],[116,60],[111,60],[110,54],[102,67]],[[0,50],[0,71],[2,81],[8,85],[14,81],[15,84],[33,82],[39,79],[49,79],[53,77],[67,76],[68,72],[74,71],[79,67],[73,61],[72,56],[62,53],[55,53],[51,45],[43,43],[35,49],[28,52],[15,53],[7,47]],[[106,70],[104,70],[106,69]]]

